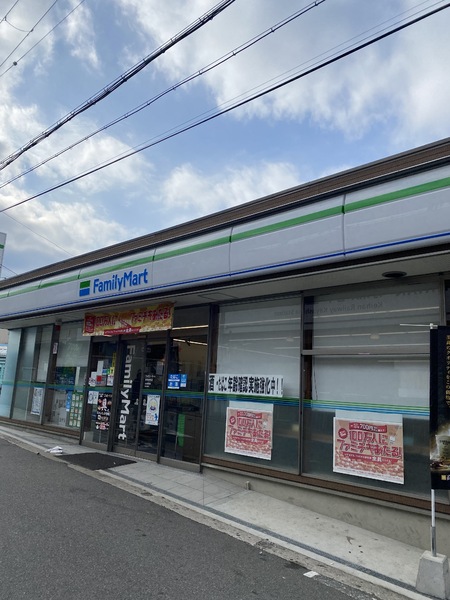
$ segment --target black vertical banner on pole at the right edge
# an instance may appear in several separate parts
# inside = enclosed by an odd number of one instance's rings
[[[430,331],[430,471],[433,490],[450,489],[450,327]]]

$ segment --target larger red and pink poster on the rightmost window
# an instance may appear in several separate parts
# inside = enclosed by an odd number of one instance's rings
[[[335,418],[333,471],[404,483],[403,423]]]

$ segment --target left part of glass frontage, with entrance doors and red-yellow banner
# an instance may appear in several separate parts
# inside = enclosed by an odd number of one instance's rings
[[[3,416],[94,448],[198,465],[208,321],[207,306],[164,302],[12,330]]]

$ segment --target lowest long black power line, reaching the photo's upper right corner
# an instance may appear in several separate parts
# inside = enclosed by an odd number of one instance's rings
[[[167,133],[166,135],[163,135],[162,137],[158,138],[157,140],[154,140],[152,142],[146,143],[144,145],[142,145],[141,147],[139,147],[138,149],[132,150],[131,152],[125,153],[122,156],[115,158],[113,160],[110,160],[100,166],[97,166],[93,169],[90,169],[82,174],[76,175],[74,177],[71,177],[70,179],[67,179],[66,181],[63,181],[57,185],[54,185],[50,188],[47,188],[46,190],[39,192],[38,194],[34,194],[33,196],[30,196],[28,198],[25,198],[24,200],[21,200],[19,202],[16,202],[15,204],[12,204],[11,206],[8,206],[6,208],[3,208],[0,210],[0,213],[4,213],[7,210],[10,210],[11,208],[16,208],[17,206],[21,206],[22,204],[25,204],[27,202],[29,202],[30,200],[34,200],[36,198],[39,198],[41,196],[44,196],[45,194],[48,194],[50,192],[53,192],[55,190],[61,189],[71,183],[74,183],[75,181],[79,181],[80,179],[83,179],[84,177],[87,177],[88,175],[92,175],[94,173],[97,173],[98,171],[101,171],[102,169],[105,169],[106,167],[112,166],[122,160],[125,160],[126,158],[130,158],[131,156],[134,156],[135,154],[138,154],[140,152],[143,152],[144,150],[147,150],[148,148],[151,148],[153,146],[156,146],[157,144],[161,144],[164,141],[167,141],[171,138],[176,137],[177,135],[180,135],[181,133],[185,133],[186,131],[189,131],[191,129],[194,129],[195,127],[198,127],[199,125],[203,125],[204,123],[207,123],[209,121],[212,121],[213,119],[216,119],[217,117],[224,115],[226,113],[229,113],[233,110],[236,110],[237,108],[240,108],[250,102],[253,102],[254,100],[257,100],[258,98],[261,98],[269,93],[272,93],[276,90],[279,90],[283,87],[285,87],[286,85],[289,85],[290,83],[293,83],[294,81],[297,81],[299,79],[302,79],[303,77],[306,77],[307,75],[310,75],[311,73],[314,73],[320,69],[323,69],[324,67],[327,67],[339,60],[342,60],[343,58],[346,58],[347,56],[350,56],[352,54],[354,54],[355,52],[358,52],[364,48],[367,48],[368,46],[371,46],[373,44],[375,44],[376,42],[379,42],[395,33],[398,33],[399,31],[402,31],[403,29],[406,29],[407,27],[411,27],[412,25],[415,25],[416,23],[423,21],[424,19],[427,19],[447,8],[450,7],[450,2],[447,2],[446,4],[444,4],[443,6],[440,6],[436,9],[434,9],[433,11],[430,11],[428,13],[425,13],[424,15],[420,15],[419,17],[416,17],[415,19],[412,19],[411,21],[408,21],[407,23],[403,23],[402,25],[399,25],[397,27],[394,27],[393,29],[390,29],[389,31],[386,31],[384,33],[381,33],[380,35],[375,36],[374,38],[362,42],[360,44],[354,45],[351,49],[346,50],[344,52],[341,52],[340,54],[337,54],[336,56],[333,56],[332,58],[329,58],[309,69],[306,69],[305,71],[302,71],[301,73],[298,73],[288,79],[285,79],[284,81],[282,81],[281,83],[277,83],[275,85],[272,85],[271,87],[268,87],[266,89],[264,89],[261,92],[255,93],[251,96],[248,96],[247,98],[240,100],[238,102],[235,102],[234,104],[232,104],[231,106],[228,106],[227,108],[224,108],[222,110],[218,110],[216,112],[214,112],[213,114],[209,114],[208,116],[198,119],[196,121],[191,122],[189,125],[186,125],[184,127],[181,127],[175,131],[172,131],[170,133]]]

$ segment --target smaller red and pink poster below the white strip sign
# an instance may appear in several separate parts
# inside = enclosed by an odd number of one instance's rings
[[[272,458],[272,412],[227,408],[225,452]]]

